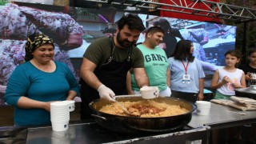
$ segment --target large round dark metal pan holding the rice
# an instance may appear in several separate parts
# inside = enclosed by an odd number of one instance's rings
[[[137,102],[142,100],[141,97],[118,97],[116,99],[118,102]],[[102,106],[110,104],[110,102],[102,101],[100,99],[90,102],[89,106],[90,109],[93,110],[94,119],[99,125],[106,129],[122,133],[139,133],[142,131],[166,132],[176,130],[186,126],[192,118],[192,112],[196,110],[194,104],[179,98],[154,98],[153,100],[156,102],[166,102],[169,105],[179,105],[182,108],[189,110],[189,112],[170,117],[140,118],[102,113],[99,110]]]

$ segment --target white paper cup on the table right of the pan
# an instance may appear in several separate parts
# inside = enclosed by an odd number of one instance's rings
[[[210,102],[207,101],[197,101],[197,114],[198,115],[208,115],[210,112]]]

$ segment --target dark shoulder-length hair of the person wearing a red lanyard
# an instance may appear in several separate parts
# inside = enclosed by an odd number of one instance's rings
[[[174,53],[171,55],[171,57],[174,57],[180,61],[188,59],[189,62],[193,62],[194,56],[190,53],[190,48],[192,45],[193,42],[190,40],[180,40],[177,43]]]

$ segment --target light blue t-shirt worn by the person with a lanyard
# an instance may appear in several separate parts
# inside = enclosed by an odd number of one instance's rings
[[[187,74],[190,74],[190,83],[182,83],[183,74],[186,74],[185,67],[182,61],[168,58],[170,63],[170,90],[198,93],[199,92],[199,78],[205,78],[201,62],[194,58],[194,62],[189,62],[187,67]],[[184,61],[186,66],[187,61]]]

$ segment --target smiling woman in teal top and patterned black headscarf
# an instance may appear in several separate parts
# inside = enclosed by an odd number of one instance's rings
[[[78,82],[62,62],[54,62],[54,42],[44,34],[33,34],[26,42],[27,62],[17,66],[6,88],[5,102],[15,106],[14,124],[50,124],[50,102],[72,100]]]

